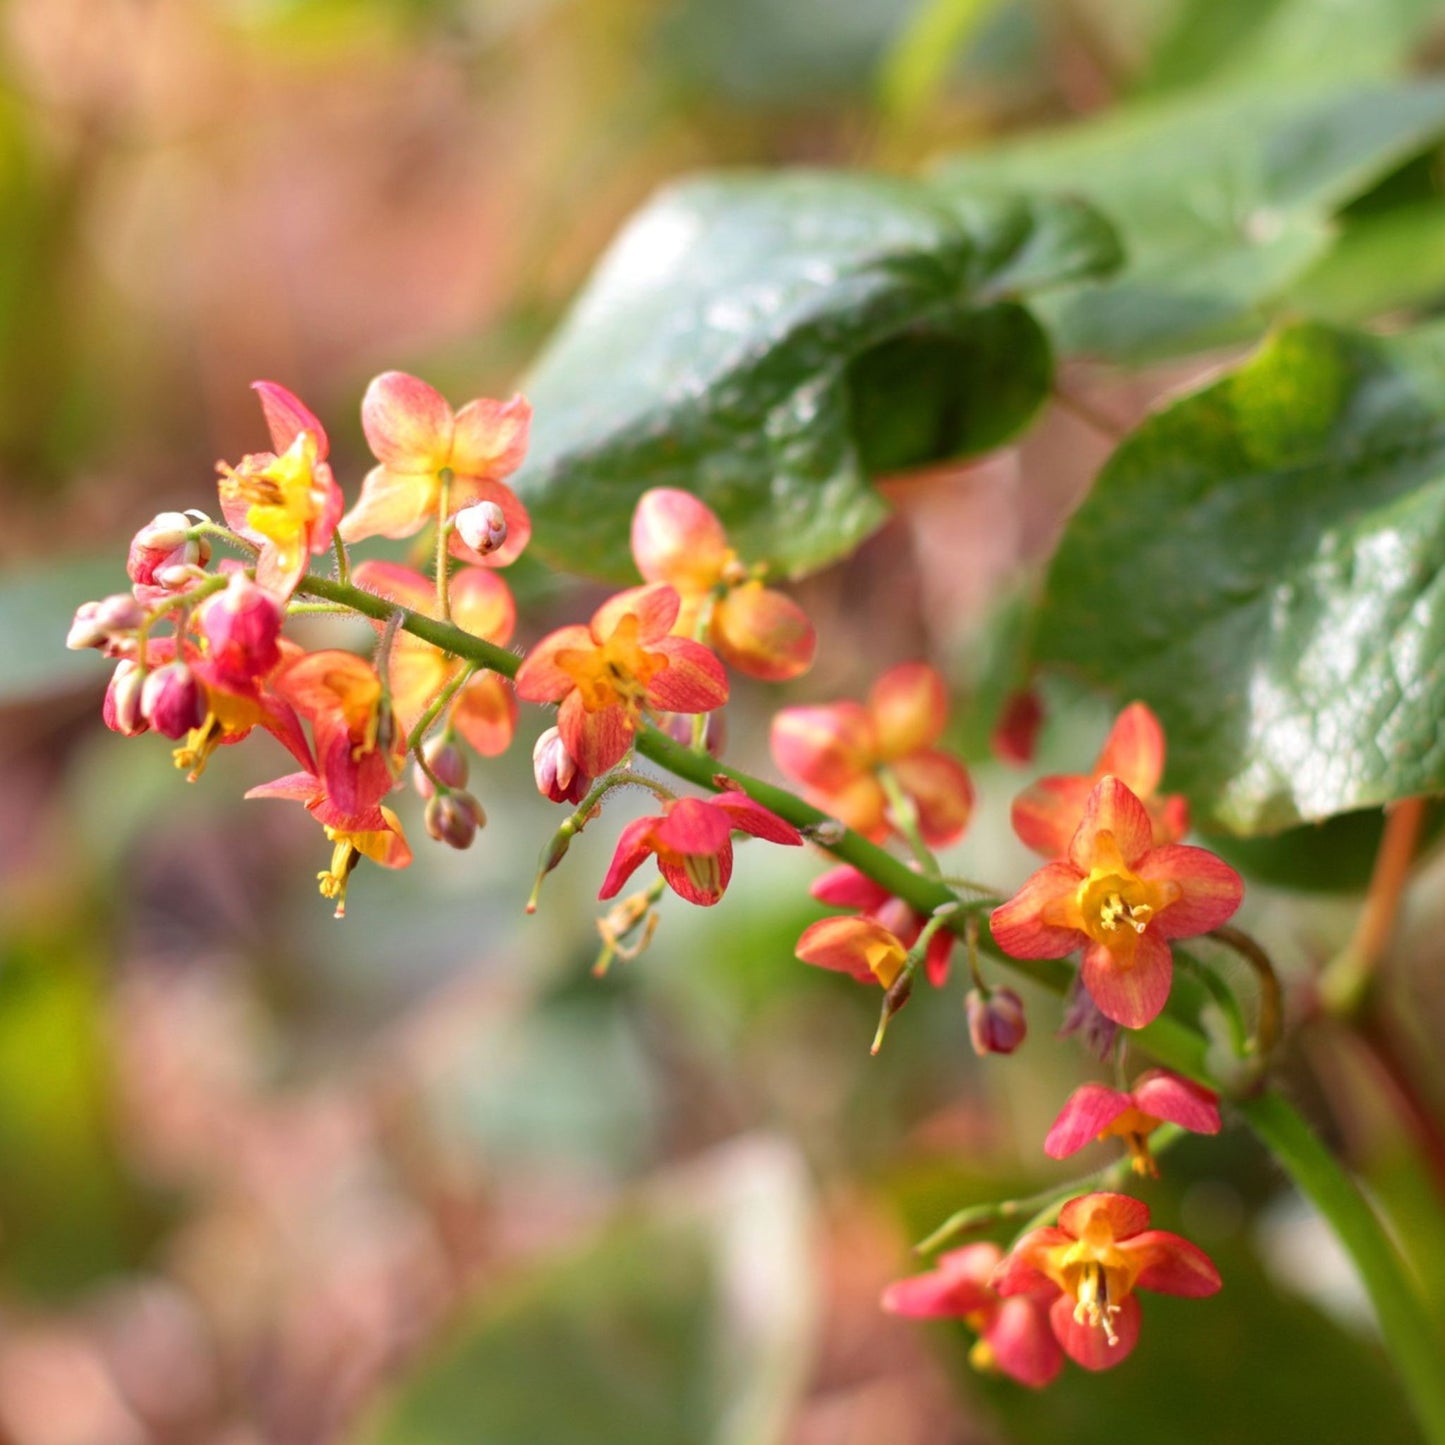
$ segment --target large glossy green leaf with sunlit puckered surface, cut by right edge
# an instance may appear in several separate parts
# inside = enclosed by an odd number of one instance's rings
[[[1036,652],[1169,736],[1240,834],[1445,785],[1445,328],[1279,332],[1114,454]]]

